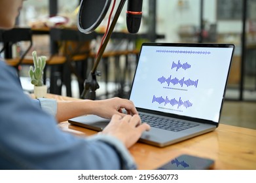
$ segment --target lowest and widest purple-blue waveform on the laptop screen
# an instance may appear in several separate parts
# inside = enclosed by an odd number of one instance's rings
[[[185,108],[192,107],[192,103],[189,100],[182,101],[181,97],[179,97],[179,100],[176,100],[175,98],[169,99],[167,96],[164,99],[162,96],[156,97],[155,95],[153,95],[152,103],[155,103],[155,102],[159,103],[159,104],[164,103],[164,105],[168,105],[170,103],[170,105],[172,105],[172,106],[177,105],[177,108],[179,108],[181,106],[183,106]]]

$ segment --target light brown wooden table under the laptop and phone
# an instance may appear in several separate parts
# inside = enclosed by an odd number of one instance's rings
[[[48,97],[77,100],[51,94]],[[64,131],[77,135],[97,133],[68,122],[62,122],[59,126]],[[130,153],[139,169],[156,169],[180,154],[214,159],[213,169],[256,169],[256,130],[220,124],[213,132],[165,148],[137,142],[130,148]]]

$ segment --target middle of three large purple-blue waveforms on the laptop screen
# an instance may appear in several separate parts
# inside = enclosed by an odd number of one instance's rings
[[[160,82],[161,84],[163,84],[164,82],[167,82],[168,86],[170,86],[170,83],[172,84],[180,84],[181,87],[183,87],[183,85],[187,85],[187,87],[189,86],[195,86],[197,88],[198,85],[198,79],[197,80],[191,80],[190,78],[185,80],[185,77],[181,78],[180,80],[178,78],[172,78],[172,75],[170,75],[169,78],[165,78],[164,76],[160,77],[157,79],[158,82]]]

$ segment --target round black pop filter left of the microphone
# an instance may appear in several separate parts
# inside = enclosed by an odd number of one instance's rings
[[[82,0],[79,7],[77,27],[82,33],[92,33],[109,10],[111,0]]]

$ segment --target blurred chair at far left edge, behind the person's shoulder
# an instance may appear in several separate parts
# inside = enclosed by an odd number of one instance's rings
[[[20,70],[20,65],[25,59],[25,56],[31,49],[32,42],[32,31],[30,28],[14,28],[10,30],[1,30],[0,31],[0,42],[3,42],[3,48],[0,53],[5,53],[5,60],[7,64],[15,67],[18,74]],[[12,53],[12,46],[18,42],[28,42],[27,46],[22,46],[25,50],[20,52],[20,56],[14,57]],[[33,62],[32,62],[33,63]]]

